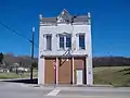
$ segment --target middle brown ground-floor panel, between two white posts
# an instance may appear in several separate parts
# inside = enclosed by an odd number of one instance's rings
[[[58,83],[70,84],[72,83],[72,59],[58,59]]]

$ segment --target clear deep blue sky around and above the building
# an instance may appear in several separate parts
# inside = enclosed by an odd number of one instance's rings
[[[0,22],[39,41],[39,14],[57,16],[63,9],[72,15],[91,13],[93,57],[130,57],[130,0],[1,0]],[[0,25],[0,52],[31,54],[26,39]],[[35,56],[38,48],[35,47]]]

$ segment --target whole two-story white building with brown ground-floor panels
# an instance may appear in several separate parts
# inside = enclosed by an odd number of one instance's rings
[[[38,84],[93,85],[91,15],[39,15]]]

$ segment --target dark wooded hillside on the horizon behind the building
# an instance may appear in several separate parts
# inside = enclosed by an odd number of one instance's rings
[[[20,63],[24,66],[28,66],[31,64],[31,58],[29,56],[14,56],[13,53],[5,53],[3,61],[11,65],[13,63]],[[35,58],[35,61],[38,62],[38,59]],[[130,65],[130,58],[125,57],[94,57],[93,58],[93,66],[122,66]]]

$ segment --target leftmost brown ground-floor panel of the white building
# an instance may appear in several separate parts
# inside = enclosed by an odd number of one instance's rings
[[[44,83],[46,84],[54,84],[54,69],[53,69],[53,62],[54,58],[46,58],[44,59]]]

